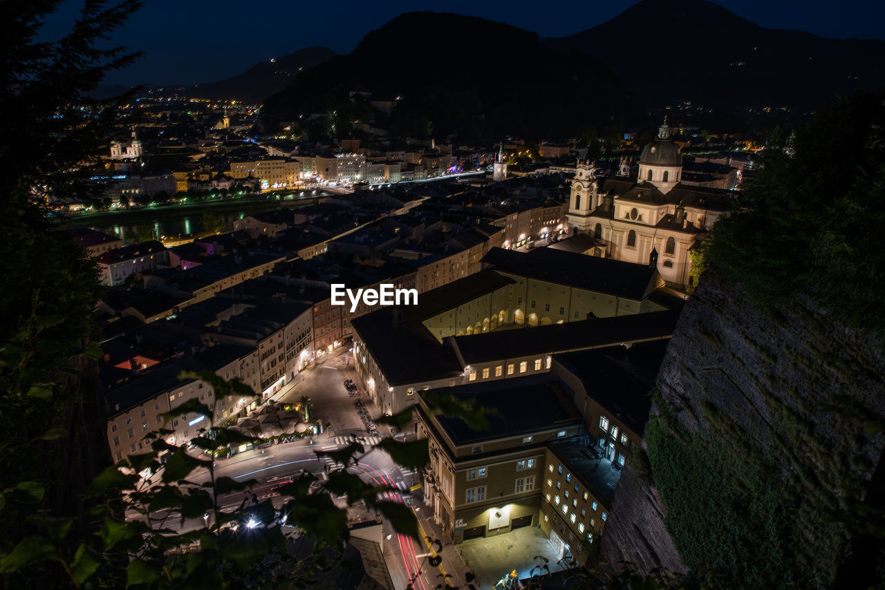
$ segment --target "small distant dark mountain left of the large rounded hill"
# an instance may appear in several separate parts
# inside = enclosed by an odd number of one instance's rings
[[[228,98],[258,103],[266,96],[286,88],[296,73],[303,68],[322,64],[335,55],[335,51],[327,47],[307,47],[288,56],[276,57],[273,61],[268,60],[253,65],[232,78],[197,84],[194,92],[197,96],[206,98]]]

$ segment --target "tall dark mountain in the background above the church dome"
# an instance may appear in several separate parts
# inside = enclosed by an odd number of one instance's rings
[[[546,42],[604,60],[650,107],[688,100],[729,111],[807,111],[885,86],[885,42],[759,27],[704,0],[643,0]]]

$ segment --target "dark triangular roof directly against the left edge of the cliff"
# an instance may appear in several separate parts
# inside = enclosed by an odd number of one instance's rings
[[[555,360],[584,384],[587,394],[635,433],[643,436],[667,341],[642,342],[629,349],[581,350]]]

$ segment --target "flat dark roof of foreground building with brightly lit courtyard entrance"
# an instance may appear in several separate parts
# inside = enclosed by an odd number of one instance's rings
[[[536,433],[581,421],[581,414],[563,395],[558,381],[551,379],[549,374],[443,387],[436,389],[435,393],[454,395],[461,402],[494,410],[486,413],[488,431],[475,431],[461,418],[437,416],[436,421],[456,446]],[[419,395],[429,408],[434,407],[424,399],[423,392]]]

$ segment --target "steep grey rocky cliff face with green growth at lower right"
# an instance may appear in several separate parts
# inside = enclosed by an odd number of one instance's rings
[[[705,274],[658,374],[645,440],[654,487],[621,481],[601,559],[740,568],[768,543],[782,563],[761,579],[829,586],[885,448],[883,375],[872,334],[812,304],[759,310]]]

